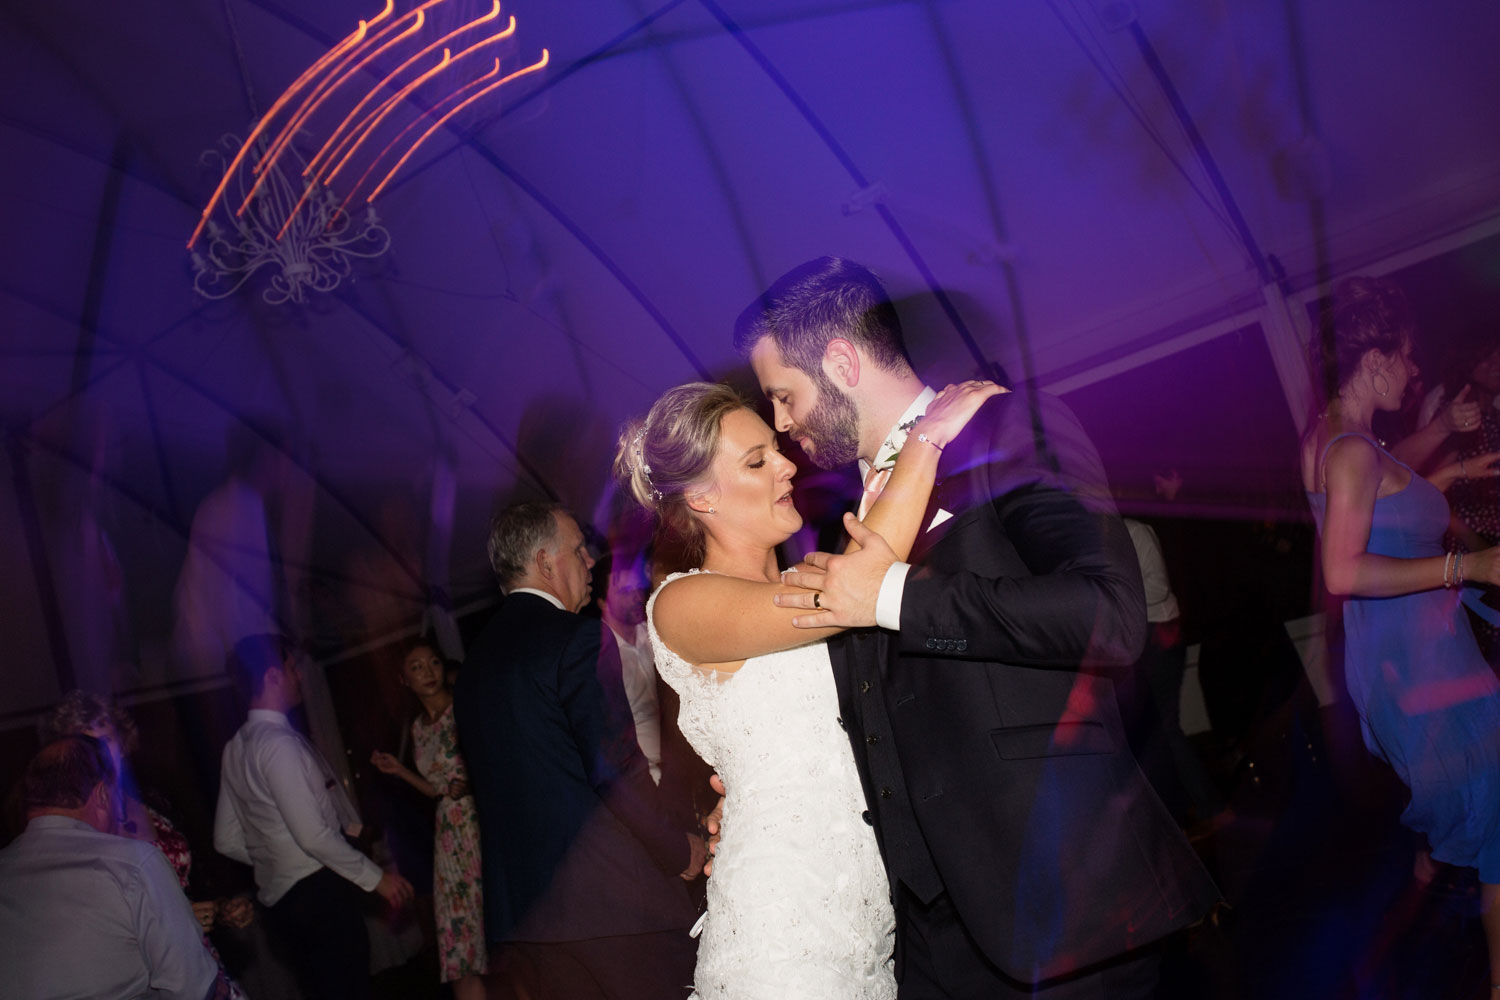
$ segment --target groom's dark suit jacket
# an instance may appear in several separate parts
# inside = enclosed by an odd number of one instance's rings
[[[1142,651],[1144,597],[1077,420],[1044,394],[987,402],[944,450],[924,526],[939,510],[900,633],[832,642],[892,883],[946,891],[1023,982],[1202,918],[1218,891],[1125,742],[1110,675]]]

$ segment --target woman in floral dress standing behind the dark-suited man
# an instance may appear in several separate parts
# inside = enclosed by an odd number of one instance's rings
[[[411,723],[417,771],[380,750],[370,762],[438,801],[434,838],[438,969],[442,982],[453,984],[456,1000],[478,1000],[484,996],[480,976],[486,970],[478,820],[453,727],[453,693],[442,682],[442,657],[426,643],[411,646],[400,663],[400,682],[423,708]]]

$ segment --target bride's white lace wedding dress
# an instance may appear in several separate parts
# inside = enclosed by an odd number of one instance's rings
[[[657,672],[682,700],[678,727],[729,789],[694,996],[894,997],[896,916],[874,831],[861,819],[826,643],[717,673],[668,649],[654,612],[656,595],[646,624]]]

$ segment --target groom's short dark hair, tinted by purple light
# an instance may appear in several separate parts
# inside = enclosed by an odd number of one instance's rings
[[[822,373],[824,349],[844,337],[876,366],[909,370],[902,321],[870,268],[842,256],[820,256],[776,279],[735,321],[735,349],[748,357],[770,337],[782,363],[810,376]]]

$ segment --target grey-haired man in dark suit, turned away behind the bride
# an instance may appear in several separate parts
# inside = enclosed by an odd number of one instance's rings
[[[556,504],[520,504],[496,514],[489,556],[506,600],[453,711],[478,807],[490,993],[684,997],[684,880],[704,844],[660,807],[614,637],[576,613],[594,565],[584,534]]]

